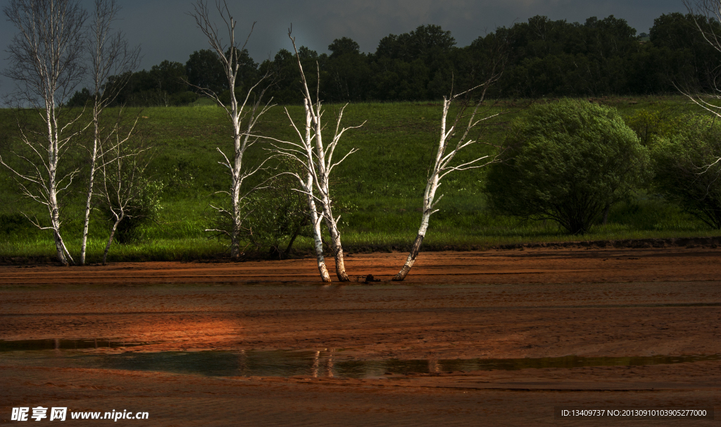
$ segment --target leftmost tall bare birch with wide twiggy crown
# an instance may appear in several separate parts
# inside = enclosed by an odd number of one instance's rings
[[[4,75],[17,85],[16,101],[37,112],[44,130],[21,128],[26,150],[14,154],[22,167],[11,166],[3,157],[0,164],[13,172],[24,195],[47,208],[49,221],[26,216],[39,229],[52,230],[58,261],[68,265],[73,258],[61,236],[60,195],[78,170],[61,172],[61,160],[79,133],[75,124],[81,113],[62,104],[84,75],[87,14],[73,0],[10,0],[3,12],[18,30],[7,50],[10,66]]]

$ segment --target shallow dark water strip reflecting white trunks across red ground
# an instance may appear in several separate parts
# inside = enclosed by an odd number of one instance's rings
[[[528,368],[570,369],[582,366],[642,366],[720,360],[721,355],[353,360],[342,351],[161,351],[100,353],[83,349],[120,348],[117,340],[0,340],[0,363],[30,366],[123,369],[199,374],[209,377],[373,378],[388,374],[451,371],[513,371]],[[142,345],[133,343],[132,345]]]

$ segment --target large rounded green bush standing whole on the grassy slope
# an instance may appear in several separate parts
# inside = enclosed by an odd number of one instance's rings
[[[616,110],[581,100],[531,107],[506,144],[503,162],[488,172],[490,206],[552,219],[572,234],[588,232],[649,175],[647,149]]]

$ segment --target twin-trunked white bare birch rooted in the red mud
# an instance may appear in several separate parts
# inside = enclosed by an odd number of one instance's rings
[[[298,133],[299,142],[288,142],[283,141],[286,144],[285,147],[277,146],[276,152],[293,157],[300,162],[306,170],[306,176],[294,174],[298,178],[300,183],[301,192],[308,196],[308,211],[311,216],[311,221],[314,224],[314,245],[316,250],[316,257],[318,260],[318,268],[321,273],[323,281],[329,282],[330,277],[325,267],[325,260],[323,257],[323,242],[320,230],[320,222],[324,221],[328,232],[330,234],[330,247],[333,252],[335,259],[335,273],[339,281],[349,281],[348,274],[345,273],[345,263],[343,261],[343,247],[340,240],[340,231],[338,229],[338,221],[340,216],[337,218],[333,216],[332,211],[332,198],[330,195],[330,173],[333,168],[343,162],[350,154],[358,151],[357,149],[350,149],[337,162],[333,162],[333,154],[340,141],[341,136],[348,129],[360,128],[363,123],[359,126],[350,126],[348,128],[341,128],[340,123],[343,118],[343,106],[337,115],[335,123],[335,133],[329,144],[325,144],[323,141],[322,131],[324,126],[322,124],[323,106],[319,97],[319,85],[320,85],[320,70],[318,69],[318,86],[316,87],[315,100],[311,97],[311,92],[308,89],[308,82],[306,81],[306,75],[303,71],[303,65],[301,63],[301,56],[298,54],[296,48],[296,39],[291,35],[291,30],[288,30],[288,38],[293,43],[293,50],[296,53],[296,62],[298,63],[298,71],[301,73],[301,84],[303,93],[303,105],[306,113],[305,132],[301,133],[296,126],[296,123],[291,118],[291,115],[286,109],[286,115],[291,120],[293,128]],[[317,195],[316,195],[317,194]],[[317,204],[320,204],[322,215],[318,215]]]

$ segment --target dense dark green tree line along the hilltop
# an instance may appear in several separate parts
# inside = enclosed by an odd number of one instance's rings
[[[719,22],[698,16],[709,28]],[[637,35],[624,19],[590,17],[583,22],[552,21],[536,16],[458,47],[451,32],[422,25],[379,41],[375,53],[362,53],[358,43],[333,40],[331,52],[301,47],[306,70],[319,65],[320,94],[327,102],[438,100],[485,75],[494,50],[504,50],[508,62],[496,85],[503,97],[598,97],[609,94],[676,92],[676,86],[713,87],[721,53],[700,34],[691,14],[663,14],[650,34]],[[269,92],[280,104],[301,102],[295,58],[281,49],[272,59],[256,63],[247,50],[237,85],[249,87],[273,72]],[[317,73],[309,72],[309,84]],[[112,79],[109,84],[112,84]],[[197,87],[228,90],[223,69],[211,50],[193,52],[185,64],[163,61],[133,73],[118,96],[128,105],[183,105],[198,97]],[[81,105],[90,91],[77,92],[71,104]]]

